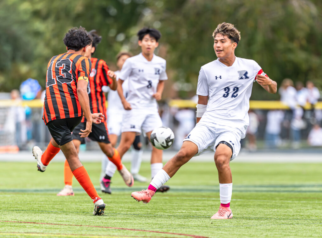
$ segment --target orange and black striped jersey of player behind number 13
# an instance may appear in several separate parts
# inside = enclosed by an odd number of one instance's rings
[[[111,84],[112,79],[107,74],[109,66],[104,60],[91,58],[90,61],[92,63],[92,70],[87,86],[88,97],[90,99],[90,112],[104,114],[105,118],[102,120],[104,122],[106,120],[106,98],[102,91],[102,86]],[[82,122],[84,122],[84,117]]]

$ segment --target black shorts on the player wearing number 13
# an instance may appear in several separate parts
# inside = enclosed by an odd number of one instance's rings
[[[64,145],[73,140],[71,132],[80,124],[82,117],[55,119],[47,123],[48,130],[58,145]]]

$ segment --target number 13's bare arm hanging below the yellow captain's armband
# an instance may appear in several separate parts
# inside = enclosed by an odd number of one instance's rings
[[[81,130],[81,133],[80,133],[81,137],[87,137],[92,131],[93,118],[90,113],[90,100],[88,98],[88,93],[87,93],[87,84],[88,84],[88,80],[77,81],[78,101],[80,102],[81,108],[86,118],[86,128],[85,130]]]

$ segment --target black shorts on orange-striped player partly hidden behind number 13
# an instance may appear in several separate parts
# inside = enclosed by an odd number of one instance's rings
[[[81,129],[84,130],[86,128],[86,120],[85,122],[80,123],[78,126],[75,127],[72,133],[73,140],[79,140],[81,141],[81,144],[85,144],[85,138],[81,138],[81,135],[79,134],[81,132]],[[90,138],[92,141],[97,142],[104,142],[106,144],[109,144],[109,134],[106,129],[106,122],[102,122],[100,124],[92,124],[92,132],[88,135],[88,138]]]

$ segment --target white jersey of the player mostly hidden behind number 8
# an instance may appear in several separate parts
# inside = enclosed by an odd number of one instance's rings
[[[120,74],[120,71],[115,71],[114,72],[116,74],[116,80],[118,80],[118,75]],[[128,81],[125,81],[122,84],[122,89],[123,89],[123,95],[126,98],[128,95]],[[112,115],[113,112],[119,112],[119,111],[123,111],[124,107],[123,104],[121,102],[121,99],[118,95],[118,91],[115,90],[109,90],[109,94],[107,95],[107,100],[109,102],[109,106],[107,108],[107,112],[109,115]]]

